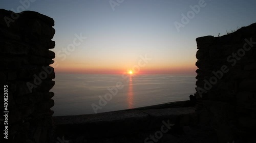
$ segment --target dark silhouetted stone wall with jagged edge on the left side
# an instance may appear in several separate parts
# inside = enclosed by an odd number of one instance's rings
[[[53,115],[50,108],[54,105],[54,93],[49,91],[55,78],[49,66],[55,53],[49,49],[55,46],[51,40],[54,20],[37,12],[3,9],[0,18],[1,93],[8,91],[8,106],[0,108],[9,111],[8,141],[49,142]],[[3,91],[4,85],[8,90]]]

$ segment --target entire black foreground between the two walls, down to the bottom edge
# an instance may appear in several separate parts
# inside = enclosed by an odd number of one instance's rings
[[[56,140],[69,142],[216,142],[214,131],[197,126],[194,107],[122,110],[53,117]]]

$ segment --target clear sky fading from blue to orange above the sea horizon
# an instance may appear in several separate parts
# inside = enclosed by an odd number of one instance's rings
[[[123,73],[138,67],[140,56],[147,54],[152,60],[140,67],[141,74],[196,74],[197,37],[222,36],[256,22],[255,0],[205,0],[178,32],[174,22],[181,23],[181,15],[200,1],[113,0],[122,2],[113,10],[109,0],[33,0],[25,9],[55,20],[56,73]],[[21,5],[0,2],[0,8],[15,12]],[[73,43],[75,34],[87,39],[63,58],[62,49]]]

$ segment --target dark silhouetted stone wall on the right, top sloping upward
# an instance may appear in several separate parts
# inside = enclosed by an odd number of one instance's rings
[[[256,23],[222,37],[206,36],[196,41],[196,98],[201,124],[210,124],[219,142],[255,139]]]

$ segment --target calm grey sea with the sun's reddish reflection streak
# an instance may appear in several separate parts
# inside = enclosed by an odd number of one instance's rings
[[[124,79],[121,75],[109,74],[56,74],[51,90],[55,93],[55,105],[51,109],[53,116],[82,115],[95,113],[96,107],[100,107],[96,110],[99,113],[188,100],[189,95],[195,93],[195,77],[129,75]],[[116,87],[117,83],[123,88]]]

